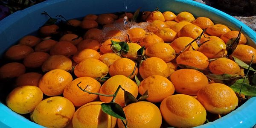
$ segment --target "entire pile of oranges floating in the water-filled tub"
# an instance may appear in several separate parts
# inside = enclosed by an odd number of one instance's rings
[[[229,86],[200,71],[244,76],[226,49],[239,31],[189,12],[146,11],[141,22],[124,24],[124,17],[131,21],[133,15],[90,14],[66,22],[84,33],[60,32],[58,24],[51,24],[37,36],[21,38],[5,52],[8,63],[0,67],[3,83],[15,80],[5,85],[13,88],[6,105],[50,128],[195,127],[207,123],[208,114],[224,115],[238,106]],[[256,49],[246,43],[241,34],[232,56],[250,64],[254,55],[255,64]],[[113,102],[119,85],[114,102],[125,119],[101,106]],[[125,91],[135,98],[147,91],[148,97],[127,104]]]

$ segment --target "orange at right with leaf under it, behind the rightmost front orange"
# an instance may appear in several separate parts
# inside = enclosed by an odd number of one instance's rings
[[[214,61],[211,61],[209,64],[209,70],[216,75],[240,75],[241,72],[239,65],[228,58],[218,58]]]

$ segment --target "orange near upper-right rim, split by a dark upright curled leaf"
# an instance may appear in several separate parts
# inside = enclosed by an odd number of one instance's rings
[[[229,41],[231,38],[237,38],[238,34],[239,34],[239,31],[229,31],[221,35],[221,39],[227,44],[227,41]],[[246,44],[246,42],[247,42],[246,37],[241,33],[239,44]]]

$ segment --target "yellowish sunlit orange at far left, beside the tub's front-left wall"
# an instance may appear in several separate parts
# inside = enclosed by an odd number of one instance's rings
[[[36,86],[16,87],[7,96],[6,105],[19,114],[34,111],[35,107],[43,99],[43,92]]]

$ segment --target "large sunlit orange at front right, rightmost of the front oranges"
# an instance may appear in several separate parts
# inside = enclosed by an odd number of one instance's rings
[[[210,113],[226,114],[238,105],[236,93],[227,85],[212,83],[198,91],[197,99]]]

